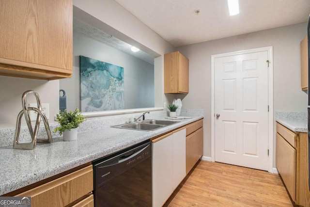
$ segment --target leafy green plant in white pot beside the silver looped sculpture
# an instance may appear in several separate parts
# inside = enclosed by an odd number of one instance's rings
[[[75,111],[59,111],[56,114],[56,120],[60,124],[60,127],[56,127],[53,132],[63,133],[63,141],[73,141],[78,138],[78,126],[85,120],[82,112],[76,108]]]

